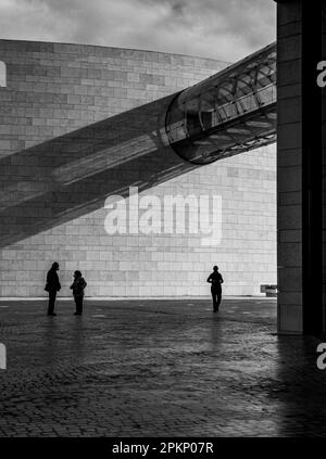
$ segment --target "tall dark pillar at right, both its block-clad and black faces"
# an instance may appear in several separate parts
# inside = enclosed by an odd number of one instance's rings
[[[322,0],[285,0],[277,4],[279,333],[325,331],[325,98],[316,82],[317,63],[326,60],[325,10]]]

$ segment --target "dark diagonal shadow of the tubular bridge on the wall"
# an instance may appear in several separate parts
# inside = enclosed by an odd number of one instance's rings
[[[197,166],[164,138],[173,95],[51,139],[0,161],[0,246],[103,207]]]

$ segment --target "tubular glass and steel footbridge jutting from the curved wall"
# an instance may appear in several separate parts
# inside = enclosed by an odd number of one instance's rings
[[[184,160],[208,164],[276,141],[276,43],[188,88],[165,120]]]

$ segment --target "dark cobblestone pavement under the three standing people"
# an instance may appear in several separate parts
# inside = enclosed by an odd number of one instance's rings
[[[274,298],[0,302],[0,436],[322,436],[321,340]]]

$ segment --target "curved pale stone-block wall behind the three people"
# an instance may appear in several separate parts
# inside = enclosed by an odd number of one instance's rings
[[[275,145],[197,167],[164,139],[173,94],[226,63],[11,40],[0,40],[0,61],[2,297],[45,296],[53,260],[61,296],[75,269],[96,297],[209,295],[214,264],[225,294],[276,283]],[[129,186],[156,195],[159,211],[166,194],[221,195],[220,244],[204,246],[187,226],[108,234],[105,199]]]

